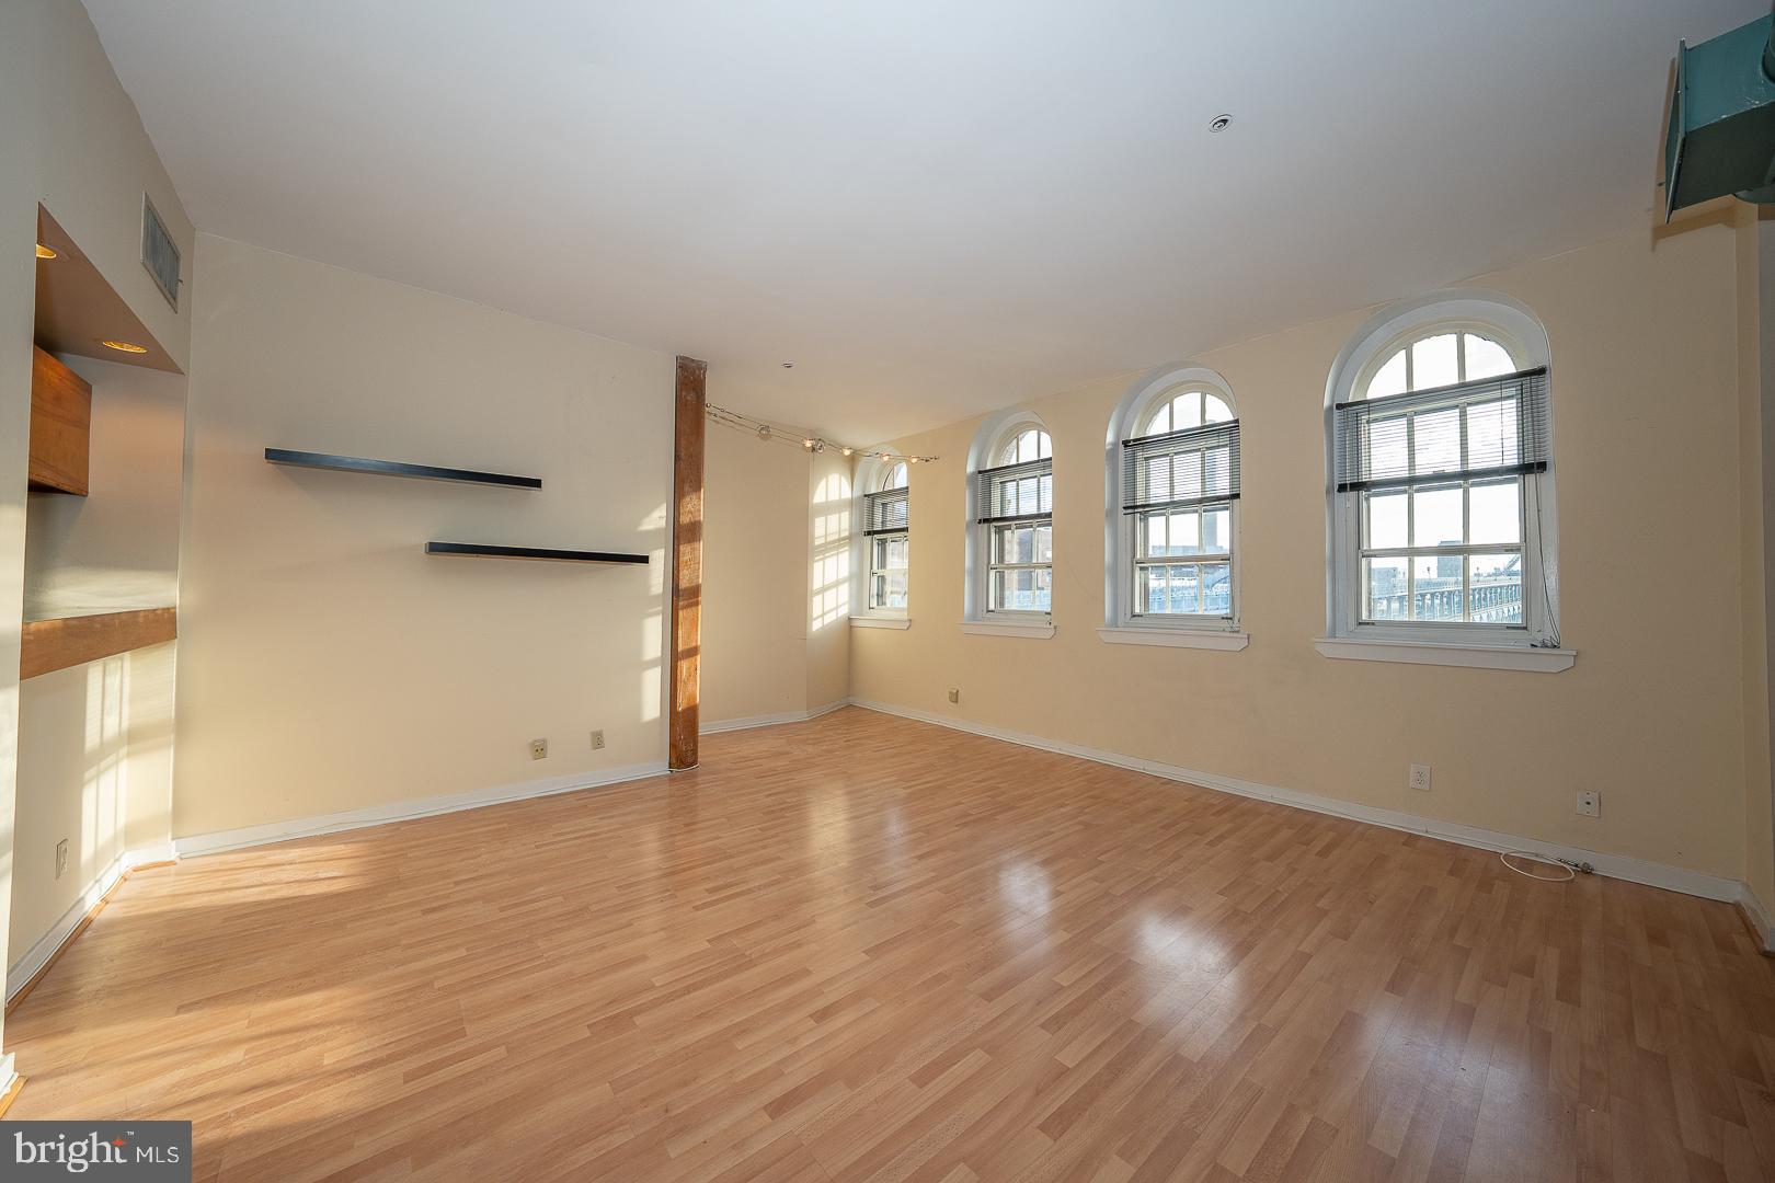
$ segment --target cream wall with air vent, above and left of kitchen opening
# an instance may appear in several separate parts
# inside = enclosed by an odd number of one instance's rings
[[[186,261],[192,225],[78,0],[0,5],[0,929],[9,929],[37,204],[181,364],[188,302],[174,312],[140,266],[144,190]]]

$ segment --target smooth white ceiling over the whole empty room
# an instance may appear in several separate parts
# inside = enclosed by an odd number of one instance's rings
[[[866,443],[1651,223],[1677,39],[1766,5],[87,9],[199,229]]]

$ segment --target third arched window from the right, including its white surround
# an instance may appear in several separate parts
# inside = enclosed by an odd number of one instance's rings
[[[967,465],[969,621],[1047,624],[1054,601],[1053,456],[1047,427],[1030,411],[994,415],[974,438]]]

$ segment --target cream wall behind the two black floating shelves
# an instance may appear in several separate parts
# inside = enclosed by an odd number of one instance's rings
[[[197,268],[174,834],[664,766],[673,358],[211,236]],[[266,447],[543,488],[280,468]]]

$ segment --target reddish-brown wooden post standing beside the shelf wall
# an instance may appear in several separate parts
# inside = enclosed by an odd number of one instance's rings
[[[698,702],[703,663],[703,408],[708,362],[678,358],[673,440],[671,559],[671,757],[669,768],[696,768]]]

